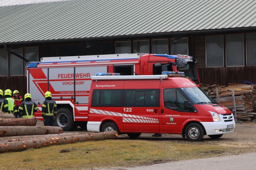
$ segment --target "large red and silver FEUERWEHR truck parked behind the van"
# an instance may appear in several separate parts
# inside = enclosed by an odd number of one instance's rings
[[[27,91],[38,104],[41,117],[44,93],[50,91],[58,106],[56,123],[64,131],[86,128],[91,76],[97,72],[121,75],[152,75],[162,71],[184,71],[199,84],[196,60],[187,55],[111,54],[43,57],[27,64]]]

